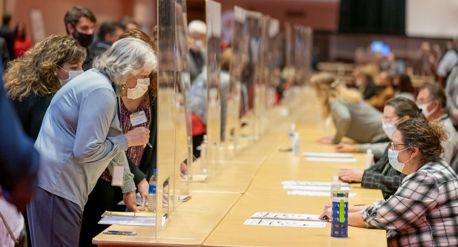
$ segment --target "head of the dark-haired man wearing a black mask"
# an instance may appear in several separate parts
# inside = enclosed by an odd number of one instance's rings
[[[75,6],[67,11],[64,17],[67,34],[78,40],[79,44],[86,48],[87,56],[82,68],[88,70],[92,67],[94,55],[88,50],[94,38],[94,29],[97,22],[91,10],[82,6]]]

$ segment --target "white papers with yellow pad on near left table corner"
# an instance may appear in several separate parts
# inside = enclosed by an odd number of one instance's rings
[[[105,214],[99,221],[103,225],[156,226],[156,216],[153,213],[112,212]],[[148,216],[147,216],[148,215]],[[162,216],[162,226],[167,221],[167,214]]]

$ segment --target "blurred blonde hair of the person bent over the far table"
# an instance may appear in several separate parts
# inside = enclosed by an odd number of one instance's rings
[[[329,117],[329,105],[332,101],[340,100],[356,103],[362,99],[359,91],[347,88],[345,85],[336,80],[334,75],[330,73],[319,73],[312,76],[310,81],[320,96],[324,118]]]

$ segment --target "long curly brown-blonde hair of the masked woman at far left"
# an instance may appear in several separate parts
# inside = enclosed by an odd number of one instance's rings
[[[19,101],[31,93],[53,95],[61,88],[54,66],[82,62],[85,57],[86,50],[77,40],[63,34],[51,35],[9,63],[3,76],[5,90]]]

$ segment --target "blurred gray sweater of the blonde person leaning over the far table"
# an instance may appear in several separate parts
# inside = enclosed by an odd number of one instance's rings
[[[388,137],[382,129],[383,114],[364,100],[356,103],[334,100],[330,104],[336,133],[333,143],[347,136],[358,143],[379,143]]]

